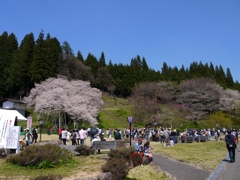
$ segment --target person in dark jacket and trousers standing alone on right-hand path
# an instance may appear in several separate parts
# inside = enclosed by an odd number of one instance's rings
[[[236,143],[234,141],[234,136],[231,134],[230,130],[227,130],[227,135],[225,136],[226,147],[229,153],[230,162],[235,162],[235,149]]]

